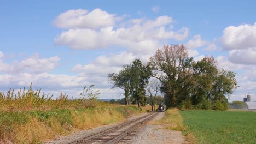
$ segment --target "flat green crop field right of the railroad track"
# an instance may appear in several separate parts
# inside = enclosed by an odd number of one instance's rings
[[[180,111],[198,143],[256,143],[256,112]]]

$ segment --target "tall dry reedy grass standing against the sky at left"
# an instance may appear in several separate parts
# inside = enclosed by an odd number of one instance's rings
[[[15,94],[15,89],[9,89],[5,94],[0,92],[0,112],[22,112],[22,111],[50,111],[56,109],[79,109],[88,107],[104,107],[110,104],[96,99],[68,99],[68,95],[60,93],[59,97],[52,99],[41,92],[34,91],[32,85],[28,90],[19,89]]]

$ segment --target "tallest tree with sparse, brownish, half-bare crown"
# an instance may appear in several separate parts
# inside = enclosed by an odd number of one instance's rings
[[[164,45],[150,57],[152,76],[162,82],[161,92],[165,95],[166,106],[174,107],[189,95],[192,61],[184,45]]]

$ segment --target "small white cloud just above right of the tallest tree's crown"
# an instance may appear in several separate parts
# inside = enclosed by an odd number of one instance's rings
[[[188,49],[195,49],[207,44],[206,40],[202,40],[201,35],[195,35],[192,39],[190,39],[185,46]]]

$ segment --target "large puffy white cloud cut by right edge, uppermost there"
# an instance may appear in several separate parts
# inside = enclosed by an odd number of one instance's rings
[[[225,49],[248,49],[256,47],[256,22],[254,25],[229,26],[223,31],[220,38]]]

